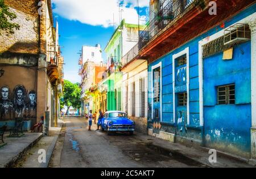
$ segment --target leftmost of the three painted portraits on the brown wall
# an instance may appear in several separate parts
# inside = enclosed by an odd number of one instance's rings
[[[0,99],[0,119],[11,119],[13,113],[13,101],[10,99],[9,86],[2,86]]]

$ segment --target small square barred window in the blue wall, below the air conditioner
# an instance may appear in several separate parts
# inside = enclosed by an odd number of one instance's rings
[[[235,85],[218,86],[218,105],[234,105],[235,103]]]

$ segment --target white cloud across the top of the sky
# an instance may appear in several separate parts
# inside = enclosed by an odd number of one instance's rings
[[[115,23],[119,23],[118,0],[53,0],[55,4],[54,13],[63,16],[69,20],[78,20],[81,23],[92,26],[113,26],[113,13]],[[131,3],[130,7],[126,7]],[[139,0],[140,7],[147,7],[149,0]],[[124,0],[122,6],[122,18],[127,23],[138,23],[137,0]],[[143,17],[142,17],[143,18]]]

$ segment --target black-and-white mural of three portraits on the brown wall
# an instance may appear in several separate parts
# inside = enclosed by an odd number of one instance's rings
[[[13,96],[13,98],[11,98]],[[13,99],[13,100],[12,100]],[[2,86],[0,99],[0,120],[11,120],[15,118],[36,117],[36,92],[31,90],[27,94],[23,85],[14,88],[13,94],[9,86]]]

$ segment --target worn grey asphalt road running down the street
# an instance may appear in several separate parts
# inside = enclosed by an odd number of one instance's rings
[[[49,167],[61,168],[152,168],[152,167],[200,167],[201,165],[174,156],[154,145],[143,134],[115,134],[88,131],[88,121],[67,118],[57,141]]]

